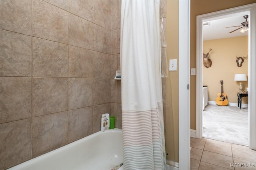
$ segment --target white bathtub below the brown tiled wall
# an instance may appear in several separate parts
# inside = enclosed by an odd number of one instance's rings
[[[116,170],[121,163],[122,130],[115,128],[94,133],[9,170]]]

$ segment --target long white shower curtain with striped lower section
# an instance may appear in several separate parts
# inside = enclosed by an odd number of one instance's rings
[[[159,0],[122,0],[122,138],[125,170],[165,170]]]

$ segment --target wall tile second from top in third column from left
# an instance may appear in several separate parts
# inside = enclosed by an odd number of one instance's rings
[[[73,14],[69,15],[68,43],[76,47],[92,49],[93,23]]]

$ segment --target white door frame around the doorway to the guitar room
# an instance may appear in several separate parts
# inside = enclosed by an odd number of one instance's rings
[[[248,64],[248,79],[249,79],[249,95],[248,95],[248,113],[249,113],[249,147],[256,149],[256,3],[209,14],[203,14],[196,18],[196,138],[202,138],[202,53],[203,53],[203,36],[202,23],[212,20],[212,18],[223,18],[223,16],[231,15],[237,12],[249,11],[249,64]]]

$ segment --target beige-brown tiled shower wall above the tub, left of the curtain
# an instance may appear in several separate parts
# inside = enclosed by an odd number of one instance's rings
[[[122,128],[120,0],[0,1],[0,170]]]

